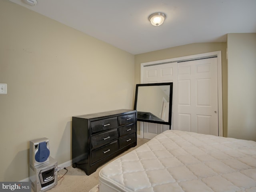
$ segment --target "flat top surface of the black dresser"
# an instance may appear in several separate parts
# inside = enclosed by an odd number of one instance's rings
[[[93,113],[93,114],[86,114],[86,115],[79,115],[74,116],[78,118],[85,118],[85,119],[92,119],[92,118],[99,118],[99,117],[111,117],[115,115],[124,115],[124,114],[130,114],[130,113],[137,112],[136,110],[131,109],[118,109],[113,111],[106,111],[106,112],[99,112],[99,113]]]

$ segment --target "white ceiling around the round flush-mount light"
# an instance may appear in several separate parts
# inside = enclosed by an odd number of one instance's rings
[[[256,0],[10,0],[117,48],[140,54],[256,32]],[[148,16],[166,14],[161,26]]]

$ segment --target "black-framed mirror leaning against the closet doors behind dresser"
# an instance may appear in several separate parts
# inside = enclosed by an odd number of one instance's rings
[[[137,120],[171,125],[172,82],[136,84]]]

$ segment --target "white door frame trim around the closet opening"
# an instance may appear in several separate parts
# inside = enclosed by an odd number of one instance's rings
[[[218,134],[219,136],[223,136],[223,107],[222,107],[222,58],[221,58],[221,51],[216,52],[208,52],[196,55],[189,55],[171,59],[164,59],[158,61],[151,61],[146,63],[140,64],[140,83],[143,83],[143,69],[145,66],[150,65],[160,65],[172,62],[184,62],[189,60],[198,60],[210,57],[217,57],[217,79],[218,79]],[[140,122],[140,138],[144,138],[144,127],[143,122]]]

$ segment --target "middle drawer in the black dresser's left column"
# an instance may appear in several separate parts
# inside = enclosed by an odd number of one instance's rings
[[[117,139],[118,139],[117,129],[113,129],[113,130],[92,136],[91,147],[92,149],[94,149]]]

